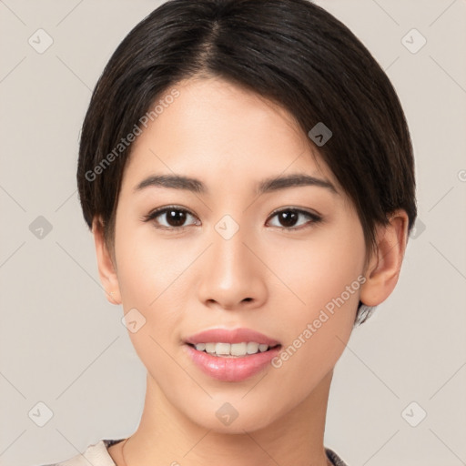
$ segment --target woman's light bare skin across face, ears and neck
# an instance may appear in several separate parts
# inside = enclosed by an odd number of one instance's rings
[[[219,78],[178,83],[175,102],[135,141],[119,193],[115,250],[93,224],[101,282],[110,302],[146,319],[128,335],[147,368],[137,431],[109,448],[117,466],[324,466],[323,434],[333,368],[349,340],[358,301],[375,306],[394,289],[406,248],[408,217],[398,210],[366,245],[353,204],[283,108]],[[169,92],[169,89],[167,93]],[[152,174],[196,177],[208,195],[167,187],[133,192]],[[256,196],[266,177],[305,173],[325,187],[288,187]],[[183,230],[155,208],[186,208]],[[293,226],[272,213],[301,208]],[[238,224],[230,239],[216,224]],[[282,229],[280,229],[280,227]],[[285,228],[289,228],[288,230]],[[294,228],[294,231],[292,229]],[[114,253],[114,257],[113,257]],[[279,368],[241,382],[209,378],[183,339],[216,327],[256,329],[287,348],[321,309],[358,277],[366,281]],[[238,411],[230,425],[216,411]]]

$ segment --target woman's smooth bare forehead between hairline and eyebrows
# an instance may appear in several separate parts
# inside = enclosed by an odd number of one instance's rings
[[[174,90],[177,97],[164,101]],[[190,79],[157,102],[165,105],[133,143],[123,187],[134,187],[149,172],[182,173],[237,189],[249,177],[297,172],[338,185],[294,117],[254,92],[220,78]]]

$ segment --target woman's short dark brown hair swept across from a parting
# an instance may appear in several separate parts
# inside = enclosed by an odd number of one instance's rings
[[[409,129],[388,76],[348,27],[307,0],[170,0],[117,47],[82,127],[79,198],[89,228],[102,219],[110,248],[127,135],[167,89],[194,76],[224,78],[278,103],[306,135],[329,128],[324,145],[310,134],[309,145],[354,202],[368,252],[376,225],[396,209],[406,210],[410,231],[417,208]],[[368,315],[360,306],[357,321]]]

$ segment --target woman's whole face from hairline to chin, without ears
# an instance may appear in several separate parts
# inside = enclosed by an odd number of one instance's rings
[[[153,390],[208,429],[254,431],[286,418],[328,380],[360,298],[363,232],[282,108],[220,79],[176,89],[127,162],[116,218],[118,292],[137,322],[128,334]],[[160,176],[198,181],[147,181]],[[279,346],[228,358],[187,344],[208,329],[255,330]],[[257,350],[241,341],[261,338],[236,337],[238,354]],[[238,412],[228,427],[216,415],[220,407],[234,412],[227,402]]]

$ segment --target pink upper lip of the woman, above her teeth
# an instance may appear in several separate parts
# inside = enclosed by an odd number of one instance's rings
[[[255,341],[256,343],[274,347],[280,344],[279,340],[269,338],[267,335],[252,329],[208,329],[187,337],[186,343],[242,343]]]

